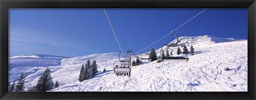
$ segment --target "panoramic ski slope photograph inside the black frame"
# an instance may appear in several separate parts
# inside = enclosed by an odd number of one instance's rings
[[[9,92],[247,92],[247,8],[9,8]]]

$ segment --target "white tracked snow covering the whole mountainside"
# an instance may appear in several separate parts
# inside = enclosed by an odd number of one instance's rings
[[[188,45],[189,51],[191,44],[193,44],[196,51],[194,56],[188,55],[189,60],[187,62],[143,62],[139,66],[132,67],[131,77],[114,74],[113,64],[114,61],[118,60],[118,53],[62,58],[60,65],[47,66],[52,70],[53,81],[58,80],[61,84],[60,87],[51,91],[247,92],[246,40],[216,38],[209,35],[181,37],[180,40],[181,43]],[[177,55],[174,54],[174,56]],[[12,62],[12,58],[23,60],[24,57],[9,58],[9,63],[18,65],[17,61]],[[87,59],[97,60],[99,72],[92,79],[79,82],[79,71]],[[226,67],[230,70],[225,71]],[[37,84],[37,80],[46,67],[12,66],[11,68],[9,82],[12,83],[12,81],[17,80],[21,72],[25,72],[25,84],[26,89],[28,89]],[[102,72],[104,68],[106,68],[106,72]]]

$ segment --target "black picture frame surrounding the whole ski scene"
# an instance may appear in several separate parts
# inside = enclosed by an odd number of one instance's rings
[[[248,8],[248,92],[8,92],[8,8]],[[255,99],[255,0],[0,0],[2,99]]]

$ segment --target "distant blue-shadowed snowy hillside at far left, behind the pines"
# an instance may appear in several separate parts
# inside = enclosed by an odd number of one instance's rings
[[[27,77],[45,67],[61,65],[61,60],[66,58],[70,57],[46,54],[10,57],[9,82],[18,80],[22,72]]]

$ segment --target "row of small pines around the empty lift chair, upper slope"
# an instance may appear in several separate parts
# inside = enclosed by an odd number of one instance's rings
[[[169,58],[171,55],[173,55],[172,51],[171,53],[169,53],[168,49],[166,50],[166,54],[164,53],[164,51],[162,51],[163,53],[161,54],[162,58]],[[181,52],[180,48],[178,47],[177,49],[177,54],[188,54],[189,51],[187,49],[186,46],[183,46],[183,52]],[[193,46],[190,47],[190,54],[194,55],[195,54],[195,49],[193,48]],[[151,52],[149,53],[149,59],[151,59],[151,61],[155,61],[157,59],[157,55],[156,55],[156,51],[154,48],[152,48]]]

